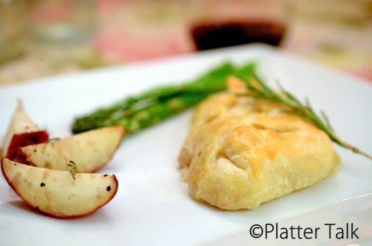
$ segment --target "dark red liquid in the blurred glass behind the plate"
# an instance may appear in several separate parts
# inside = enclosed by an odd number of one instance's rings
[[[269,20],[199,22],[191,26],[196,49],[216,49],[249,43],[279,46],[285,26]]]

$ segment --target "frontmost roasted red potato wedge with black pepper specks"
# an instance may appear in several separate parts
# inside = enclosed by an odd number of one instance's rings
[[[33,167],[3,158],[1,171],[28,205],[58,218],[79,217],[107,204],[118,191],[115,175],[76,173]]]

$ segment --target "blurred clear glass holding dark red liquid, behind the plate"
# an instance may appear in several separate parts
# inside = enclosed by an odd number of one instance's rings
[[[198,4],[208,11],[193,17],[190,35],[198,50],[249,43],[279,46],[288,21],[286,3],[284,0],[202,1]]]

